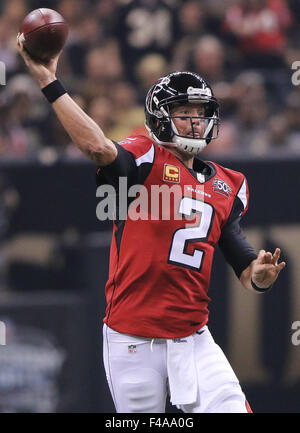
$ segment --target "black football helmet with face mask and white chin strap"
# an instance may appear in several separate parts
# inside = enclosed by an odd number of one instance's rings
[[[179,134],[172,116],[175,105],[203,104],[205,115],[185,116],[191,123],[192,134]],[[193,72],[173,72],[161,77],[149,90],[145,103],[145,125],[151,137],[159,144],[172,144],[181,150],[196,155],[219,133],[219,103],[213,96],[210,85]],[[194,132],[194,119],[205,122],[202,137]]]

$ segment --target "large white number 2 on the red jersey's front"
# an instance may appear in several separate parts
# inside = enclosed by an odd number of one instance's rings
[[[205,242],[209,236],[214,209],[209,203],[192,197],[183,197],[178,213],[185,218],[193,218],[193,213],[199,214],[199,224],[194,227],[177,229],[173,234],[168,263],[201,271],[204,252],[195,249],[193,254],[187,253],[187,247],[193,242]]]

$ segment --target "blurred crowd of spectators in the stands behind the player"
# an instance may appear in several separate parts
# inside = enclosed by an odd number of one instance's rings
[[[300,154],[300,84],[292,83],[298,0],[2,0],[2,160],[84,158],[17,52],[20,24],[38,7],[68,21],[58,77],[111,139],[146,134],[149,87],[168,72],[192,70],[221,104],[220,135],[207,156]]]

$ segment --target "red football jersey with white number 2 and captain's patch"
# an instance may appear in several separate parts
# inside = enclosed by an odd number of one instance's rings
[[[147,137],[117,146],[117,160],[99,169],[101,182],[114,177],[116,184],[127,175],[129,186],[142,186],[127,218],[113,223],[104,322],[141,337],[191,335],[208,321],[214,249],[233,212],[247,210],[246,179],[197,158],[191,170]],[[170,200],[161,194],[160,206],[151,206],[157,188],[172,186],[176,194]]]

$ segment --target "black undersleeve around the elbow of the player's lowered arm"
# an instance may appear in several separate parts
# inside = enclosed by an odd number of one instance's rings
[[[257,258],[257,253],[248,243],[241,229],[240,217],[224,226],[219,239],[219,247],[238,278],[252,260]]]

